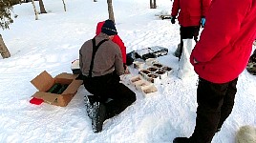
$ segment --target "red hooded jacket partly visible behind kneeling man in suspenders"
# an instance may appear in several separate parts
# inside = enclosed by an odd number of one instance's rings
[[[105,21],[97,23],[96,35],[98,35],[101,32],[101,28],[104,23],[105,23]],[[115,35],[112,41],[119,46],[119,48],[121,50],[121,54],[122,54],[122,62],[124,64],[126,64],[126,47],[124,46],[124,43],[122,42],[121,38],[118,35]]]

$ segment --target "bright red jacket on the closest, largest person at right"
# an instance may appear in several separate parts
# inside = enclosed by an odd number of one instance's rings
[[[255,0],[213,0],[190,62],[203,79],[229,82],[245,70],[255,38]]]

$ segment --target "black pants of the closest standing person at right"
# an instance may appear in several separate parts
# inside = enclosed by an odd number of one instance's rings
[[[237,80],[215,84],[199,79],[196,127],[190,136],[192,143],[210,143],[217,129],[221,129],[234,106]]]

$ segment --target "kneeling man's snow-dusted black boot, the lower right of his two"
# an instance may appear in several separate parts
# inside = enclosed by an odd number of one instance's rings
[[[94,133],[102,131],[103,122],[105,121],[106,107],[100,103],[93,104],[92,128]]]

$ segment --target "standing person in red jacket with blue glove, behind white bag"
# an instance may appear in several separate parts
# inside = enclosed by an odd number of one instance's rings
[[[172,24],[175,24],[176,16],[178,16],[181,25],[181,44],[175,51],[175,56],[181,59],[183,49],[182,39],[193,39],[198,42],[198,35],[201,25],[204,27],[206,12],[209,9],[211,0],[174,0],[172,7]]]

